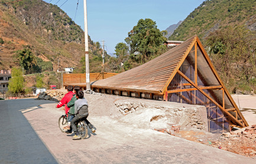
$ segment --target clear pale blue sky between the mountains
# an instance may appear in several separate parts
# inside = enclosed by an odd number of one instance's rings
[[[84,30],[83,0],[44,0],[59,6]],[[150,18],[160,31],[183,21],[205,0],[87,0],[88,34],[93,42],[104,40],[108,54],[125,42],[140,19]],[[77,5],[78,2],[78,5]]]

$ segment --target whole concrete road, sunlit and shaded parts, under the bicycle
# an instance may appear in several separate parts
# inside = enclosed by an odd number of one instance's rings
[[[63,111],[52,101],[0,101],[1,163],[256,163],[221,149],[140,129],[107,116],[89,116],[96,134],[72,140],[61,133]]]

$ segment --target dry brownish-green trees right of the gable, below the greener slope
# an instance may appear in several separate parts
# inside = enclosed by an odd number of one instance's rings
[[[210,33],[206,44],[210,48],[210,58],[226,84],[236,81],[233,85],[255,87],[255,31],[245,26],[229,26]]]

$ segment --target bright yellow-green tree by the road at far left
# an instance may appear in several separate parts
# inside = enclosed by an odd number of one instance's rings
[[[16,96],[24,93],[24,78],[19,68],[12,68],[12,78],[9,80],[8,90]]]

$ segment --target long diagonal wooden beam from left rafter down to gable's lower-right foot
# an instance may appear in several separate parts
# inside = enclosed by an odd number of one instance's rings
[[[238,120],[228,111],[226,111],[225,109],[222,108],[222,106],[220,104],[218,104],[215,100],[212,99],[212,97],[210,97],[208,94],[205,93],[205,91],[203,91],[202,89],[200,89],[199,87],[196,86],[195,83],[193,83],[193,81],[191,81],[187,76],[185,76],[180,70],[177,71],[177,73],[179,73],[180,76],[182,76],[183,78],[185,78],[187,81],[189,81],[190,84],[192,84],[192,86],[196,87],[197,90],[199,90],[203,95],[205,95],[210,101],[212,101],[216,106],[219,107],[219,109],[221,109],[224,113],[228,114],[228,116],[230,116],[233,120],[235,120],[236,123],[240,124],[241,126],[242,123],[238,122]]]

